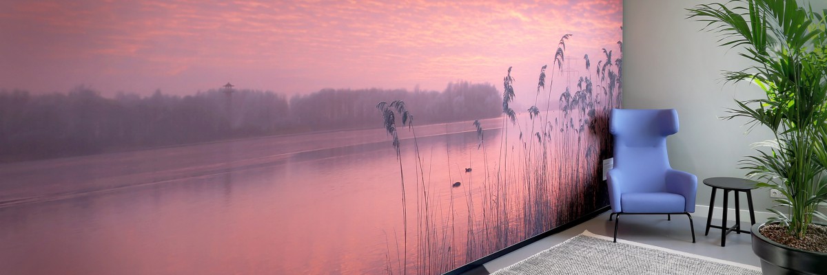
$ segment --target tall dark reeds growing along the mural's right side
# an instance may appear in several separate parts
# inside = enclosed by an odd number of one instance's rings
[[[434,185],[454,183],[455,173],[451,171],[452,159],[456,157],[452,158],[450,150],[447,151],[448,183],[432,183],[433,161],[423,158],[414,130],[414,116],[404,102],[380,102],[376,106],[393,140],[402,188],[402,239],[388,241],[385,260],[388,273],[445,273],[608,205],[600,163],[612,152],[609,112],[620,107],[622,59],[613,59],[614,50],[604,48],[605,59],[598,61],[593,75],[589,55],[584,55],[587,75],[579,76],[576,87],[563,85],[564,92],[557,97],[552,94],[552,87],[556,87],[555,75],[564,72],[566,41],[572,37],[566,34],[558,41],[550,67],[552,72],[547,74],[547,65],[540,69],[534,105],[525,111],[526,121],[512,108],[517,93],[513,85],[516,80],[511,74],[513,68],[509,67],[503,78],[503,116],[500,135],[495,136],[498,139],[496,158],[493,162],[489,158],[492,148],[488,146],[486,130],[480,121],[474,121],[479,143],[476,152],[471,154],[482,154],[484,164],[471,165],[474,158],[470,154],[468,165],[477,169],[470,173],[457,171],[461,192],[454,192],[452,188],[448,197],[434,192]],[[622,54],[622,42],[617,44]],[[544,106],[539,102],[543,93],[547,98]],[[557,102],[552,102],[555,97]],[[552,111],[556,108],[560,111]],[[411,217],[416,224],[414,228],[409,228],[406,210],[411,202],[404,192],[398,116],[402,126],[407,126],[414,136],[416,200],[413,206],[416,211]],[[509,140],[509,131],[519,132],[519,138]],[[460,167],[455,164],[453,168]],[[465,230],[457,230],[455,196],[465,199]],[[415,238],[409,239],[409,235]],[[394,245],[395,251],[401,249],[402,252],[394,255],[391,249]],[[414,251],[409,252],[409,248]]]

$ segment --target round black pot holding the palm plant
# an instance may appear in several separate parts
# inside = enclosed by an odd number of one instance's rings
[[[827,253],[793,249],[779,244],[758,230],[764,224],[753,225],[753,252],[761,258],[764,275],[827,274]]]

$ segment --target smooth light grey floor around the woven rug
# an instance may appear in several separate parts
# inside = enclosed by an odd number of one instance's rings
[[[710,235],[705,236],[706,217],[693,216],[693,221],[695,223],[696,244],[692,244],[689,219],[686,215],[672,215],[672,220],[667,220],[666,215],[621,216],[618,239],[628,239],[638,243],[760,267],[760,259],[753,254],[752,240],[749,234],[729,233],[726,237],[726,246],[721,247],[721,230],[712,228],[710,229]],[[734,221],[729,221],[730,226],[733,223]],[[712,225],[720,225],[720,220],[713,219]],[[742,223],[741,228],[748,230],[749,223]],[[614,234],[614,220],[609,221],[609,211],[606,211],[581,225],[576,225],[571,229],[548,236],[533,244],[528,244],[500,258],[495,258],[484,264],[486,271],[478,269],[467,274],[484,274],[508,267],[555,244],[560,244],[566,239],[571,239],[571,237],[583,233],[583,230],[611,237]]]

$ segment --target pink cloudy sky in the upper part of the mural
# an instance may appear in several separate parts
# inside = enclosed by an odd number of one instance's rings
[[[619,56],[621,0],[0,2],[0,88],[190,94],[231,82],[442,91],[514,66],[533,92],[565,33],[571,69]],[[582,70],[582,69],[581,69]],[[576,83],[572,84],[576,85]]]

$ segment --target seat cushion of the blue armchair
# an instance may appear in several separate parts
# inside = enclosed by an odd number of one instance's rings
[[[670,192],[639,192],[620,195],[624,213],[682,213],[686,211],[686,198]]]

